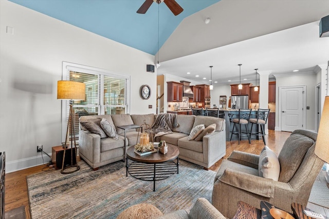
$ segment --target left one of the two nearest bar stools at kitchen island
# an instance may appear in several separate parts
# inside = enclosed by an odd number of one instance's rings
[[[249,121],[249,118],[250,118],[250,114],[251,114],[251,109],[239,109],[238,117],[237,118],[232,118],[233,129],[232,129],[232,132],[231,132],[230,141],[232,141],[233,134],[236,134],[236,135],[239,136],[239,145],[240,145],[241,136],[247,136],[249,144],[251,144],[250,135],[249,135],[249,132],[248,132],[248,127],[247,127],[248,121]],[[237,125],[237,127],[239,127],[239,130],[234,131],[234,128],[236,128],[235,125]],[[246,132],[241,131],[241,125],[245,125]]]

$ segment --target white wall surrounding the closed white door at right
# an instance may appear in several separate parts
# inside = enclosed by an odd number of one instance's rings
[[[317,85],[316,74],[298,74],[288,75],[284,77],[277,76],[276,92],[277,92],[277,103],[280,103],[279,98],[279,87],[284,86],[302,86],[306,85],[306,106],[309,106],[309,110],[306,110],[306,129],[315,130],[315,86]],[[279,104],[276,105],[276,125],[279,124]]]

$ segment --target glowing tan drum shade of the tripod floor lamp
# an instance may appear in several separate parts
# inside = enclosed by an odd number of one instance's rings
[[[58,81],[57,98],[58,99],[76,99],[84,100],[86,85],[82,82]]]

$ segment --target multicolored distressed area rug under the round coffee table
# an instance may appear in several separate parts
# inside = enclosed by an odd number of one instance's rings
[[[198,197],[211,201],[214,171],[179,161],[179,174],[153,182],[125,176],[125,163],[116,162],[93,171],[80,161],[80,170],[60,170],[27,176],[32,218],[116,218],[124,209],[149,203],[162,213],[191,209]]]

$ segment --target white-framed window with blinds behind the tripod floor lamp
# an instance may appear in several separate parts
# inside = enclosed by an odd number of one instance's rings
[[[76,141],[79,136],[80,116],[122,114],[130,111],[128,75],[63,62],[63,80],[82,82],[86,85],[85,99],[73,103]],[[69,101],[62,102],[62,112],[62,142],[65,142]]]

